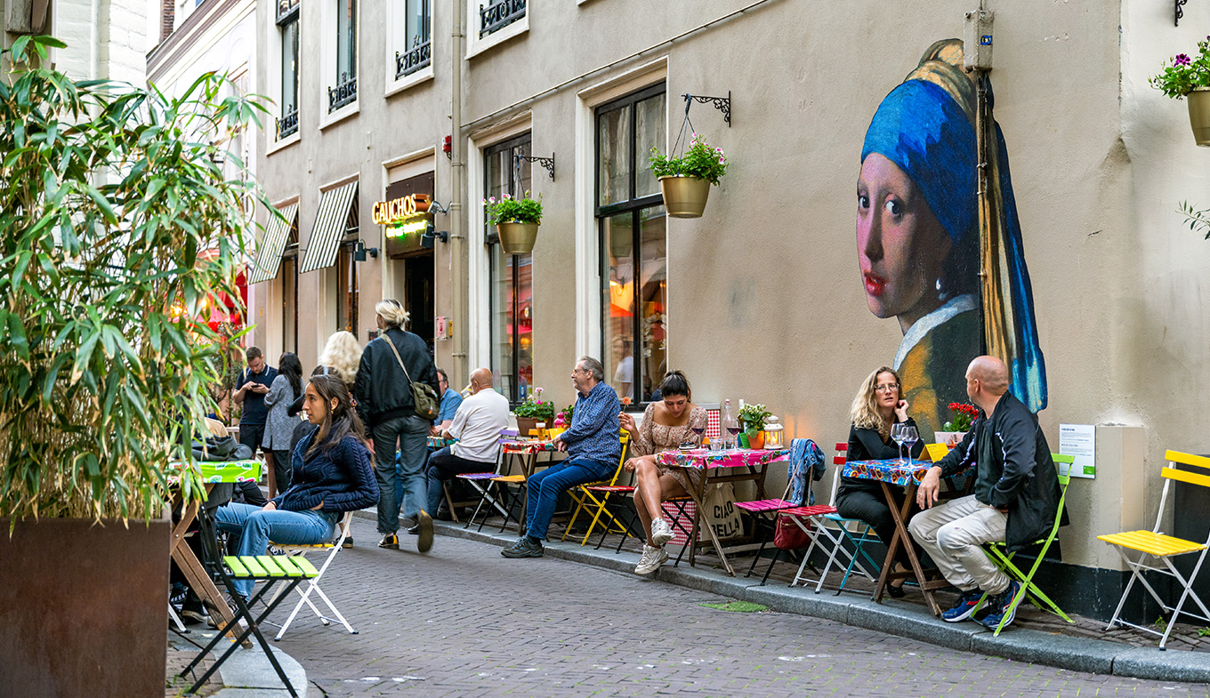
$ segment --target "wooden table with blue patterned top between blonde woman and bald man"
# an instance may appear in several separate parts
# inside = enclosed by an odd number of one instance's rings
[[[882,573],[878,575],[878,584],[874,588],[874,600],[876,602],[882,601],[882,594],[886,593],[887,584],[893,579],[915,576],[921,593],[924,594],[924,601],[928,602],[929,611],[934,616],[940,616],[941,610],[938,607],[937,600],[933,599],[933,589],[943,589],[949,587],[950,583],[944,578],[927,579],[924,577],[924,570],[920,564],[920,558],[916,555],[916,548],[908,543],[908,525],[904,520],[911,509],[912,502],[916,501],[916,488],[924,479],[924,474],[928,473],[930,467],[933,467],[932,462],[916,460],[849,461],[845,463],[842,475],[846,478],[877,480],[882,486],[882,496],[887,500],[887,507],[891,508],[891,518],[895,521],[895,532],[887,546],[887,559],[882,563]],[[903,486],[903,506],[895,506],[895,497],[891,491],[891,485]],[[895,552],[899,550],[899,546],[904,544],[908,546],[908,560],[911,563],[911,571],[892,572]],[[933,572],[937,571],[933,570]],[[934,575],[934,577],[940,577],[940,573]]]

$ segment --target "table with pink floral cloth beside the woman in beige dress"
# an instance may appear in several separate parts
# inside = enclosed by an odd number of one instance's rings
[[[705,526],[709,540],[701,540],[702,502],[705,498],[707,489],[721,483],[755,483],[756,498],[764,500],[766,498],[765,473],[768,471],[768,465],[774,461],[784,461],[789,456],[789,449],[728,449],[725,451],[693,449],[691,451],[663,451],[656,455],[656,458],[664,466],[702,471],[702,480],[697,490],[690,488],[688,492],[693,500],[693,529],[688,540],[690,566],[693,566],[696,561],[698,546],[710,546],[722,560],[727,573],[732,577],[736,576],[736,570],[727,560],[726,549],[714,532],[714,526]]]

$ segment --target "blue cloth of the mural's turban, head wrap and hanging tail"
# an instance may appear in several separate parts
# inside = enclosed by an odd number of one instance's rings
[[[990,91],[990,85],[987,86]],[[1045,364],[1038,346],[1033,317],[1033,290],[1025,265],[1021,226],[1008,172],[1008,149],[999,125],[995,125],[997,166],[992,174],[999,189],[998,231],[1001,236],[1003,279],[1008,296],[1003,328],[1010,342],[1009,371],[1013,394],[1031,411],[1047,406]],[[929,208],[953,243],[978,233],[978,163],[975,129],[970,117],[953,97],[926,80],[908,80],[891,91],[874,114],[862,146],[862,162],[877,152],[895,163],[916,183]],[[991,299],[984,299],[989,302]]]

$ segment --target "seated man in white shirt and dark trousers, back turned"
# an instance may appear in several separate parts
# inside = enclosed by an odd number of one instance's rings
[[[500,429],[508,426],[508,398],[491,387],[491,370],[471,373],[471,397],[462,400],[454,422],[440,435],[457,439],[428,456],[428,509],[442,503],[442,484],[462,473],[486,473],[500,456]]]

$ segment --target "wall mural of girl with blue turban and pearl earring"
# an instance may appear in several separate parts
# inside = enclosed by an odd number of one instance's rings
[[[875,111],[857,183],[866,305],[899,321],[904,338],[893,365],[929,440],[949,417],[947,404],[967,402],[967,364],[983,353],[1004,359],[1013,394],[1032,411],[1047,404],[1008,151],[990,104],[981,120],[989,167],[980,201],[973,80],[962,70],[961,40],[933,44]]]

